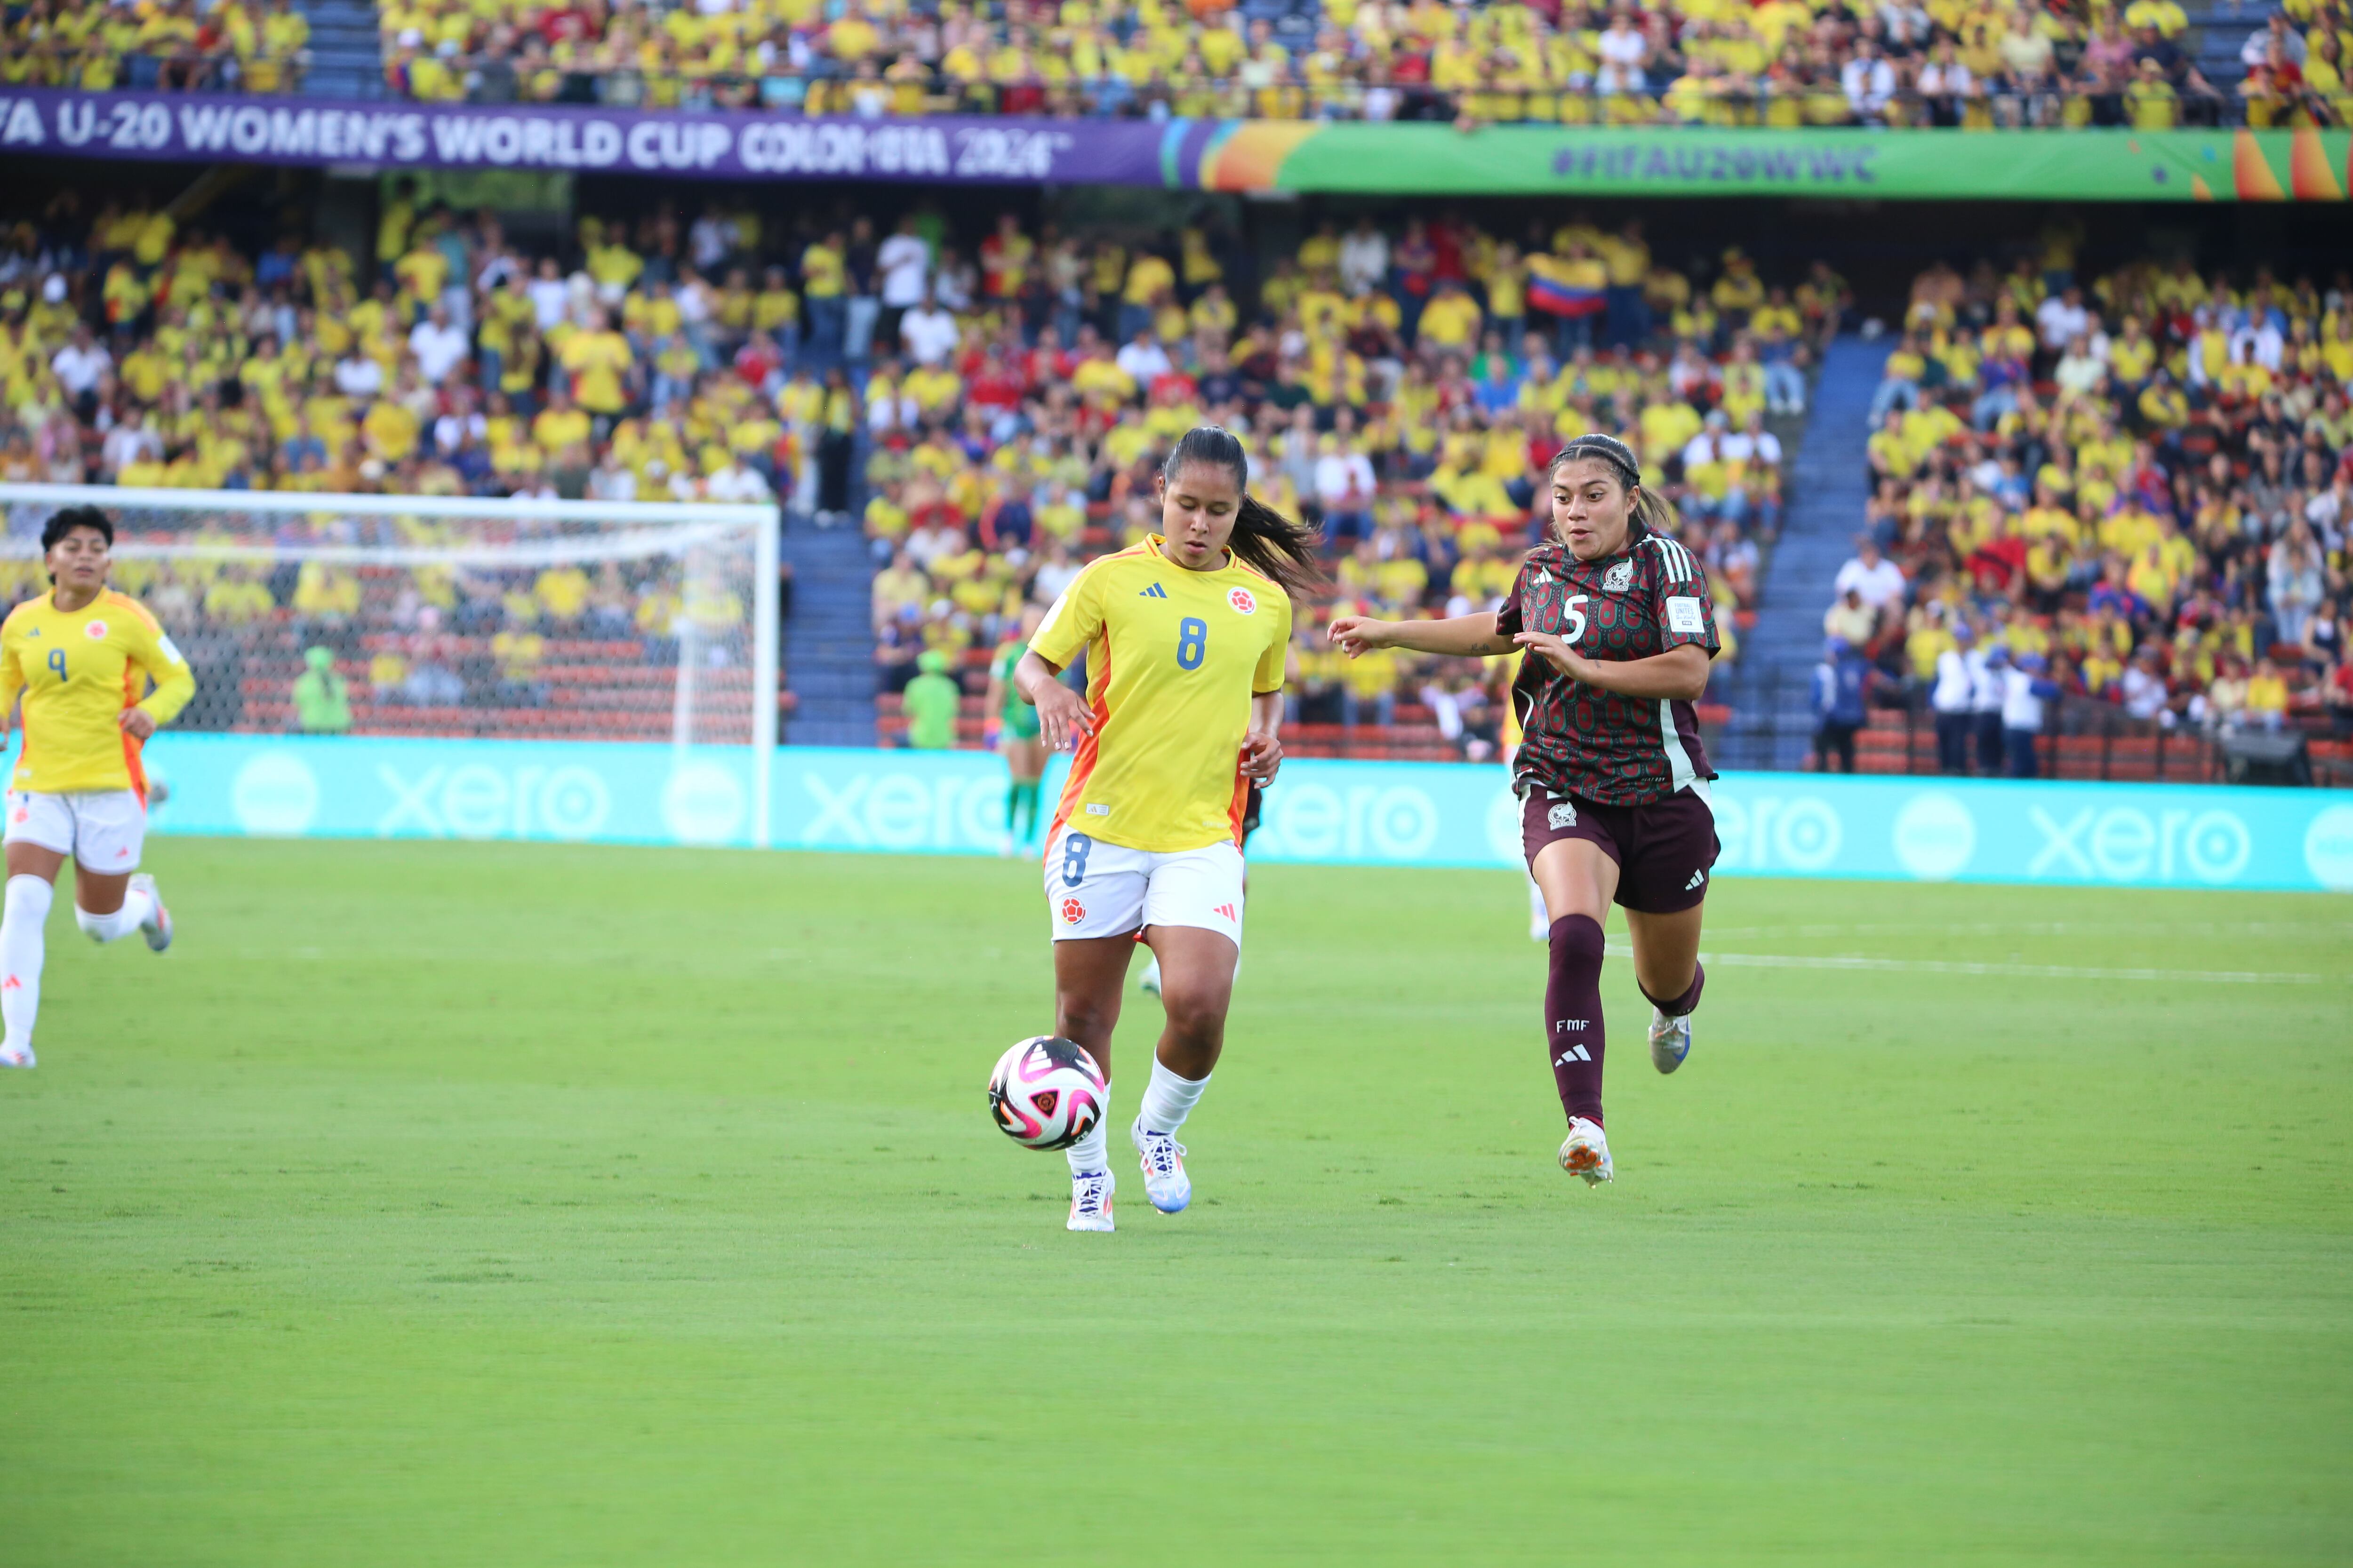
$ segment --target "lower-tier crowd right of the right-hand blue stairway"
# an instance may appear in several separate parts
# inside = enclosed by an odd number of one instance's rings
[[[1824,618],[1833,741],[1866,686],[1934,710],[1948,771],[2118,722],[2353,733],[2353,275],[2085,280],[2073,240],[1913,284]]]

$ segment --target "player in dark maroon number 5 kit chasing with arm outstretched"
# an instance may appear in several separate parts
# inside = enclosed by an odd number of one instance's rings
[[[1553,919],[1544,1016],[1569,1114],[1560,1166],[1612,1178],[1602,1135],[1602,917],[1617,900],[1633,973],[1652,1001],[1649,1060],[1692,1051],[1699,912],[1715,865],[1708,757],[1692,703],[1708,689],[1708,576],[1666,529],[1624,442],[1579,435],[1553,458],[1553,538],[1527,552],[1511,599],[1452,621],[1339,616],[1332,642],[1482,656],[1525,646],[1511,686],[1525,738],[1513,764],[1520,844]]]

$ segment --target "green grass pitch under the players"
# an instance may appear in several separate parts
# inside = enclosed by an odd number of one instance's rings
[[[151,867],[0,1074],[5,1568],[2353,1561],[2353,900],[1725,882],[1588,1192],[1511,875],[1261,867],[1071,1237],[1031,867]]]

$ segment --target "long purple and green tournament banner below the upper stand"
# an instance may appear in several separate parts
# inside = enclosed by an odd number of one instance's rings
[[[2346,132],[1725,132],[1311,120],[854,120],[536,103],[0,94],[0,155],[715,179],[1353,190],[2341,202]]]

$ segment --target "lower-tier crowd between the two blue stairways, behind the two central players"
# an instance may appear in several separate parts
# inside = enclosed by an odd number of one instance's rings
[[[1386,616],[1494,604],[1532,538],[1551,454],[1567,435],[1624,433],[1680,498],[1685,543],[1737,614],[1779,520],[1767,414],[1805,407],[1805,367],[1845,301],[1826,268],[1798,292],[1767,289],[1739,252],[1694,287],[1652,261],[1640,226],[1539,228],[1522,252],[1417,219],[1320,226],[1247,289],[1245,317],[1202,230],[1160,249],[1033,242],[1007,219],[979,268],[915,230],[878,252],[880,303],[915,303],[896,315],[901,357],[878,362],[864,397],[885,691],[925,654],[974,670],[976,689],[1024,604],[1052,602],[1092,550],[1155,527],[1160,454],[1202,421],[1245,437],[1261,498],[1320,524],[1339,604]],[[1593,287],[1553,292],[1555,270]],[[887,336],[889,310],[880,324]],[[824,505],[824,482],[816,494]],[[1388,729],[1419,708],[1431,750],[1492,750],[1492,670],[1344,661],[1322,644],[1329,614],[1299,616],[1304,724]]]

